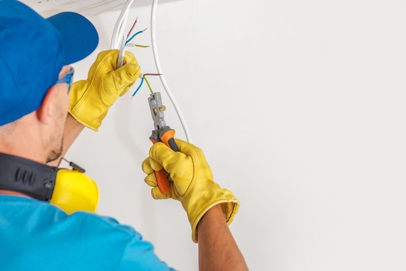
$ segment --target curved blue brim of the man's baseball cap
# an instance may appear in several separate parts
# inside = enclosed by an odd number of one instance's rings
[[[47,20],[58,29],[62,36],[65,65],[82,60],[96,49],[98,44],[96,28],[82,15],[62,12]]]

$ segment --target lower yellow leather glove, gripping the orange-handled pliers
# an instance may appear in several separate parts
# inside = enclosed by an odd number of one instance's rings
[[[197,224],[213,206],[221,204],[224,219],[229,225],[240,207],[240,201],[227,189],[213,181],[213,174],[203,151],[196,146],[176,140],[180,152],[174,152],[163,143],[154,144],[142,168],[148,174],[145,182],[152,186],[155,199],[179,200],[192,227],[192,240],[197,243]],[[171,191],[162,194],[156,184],[154,171],[162,169],[170,175]]]

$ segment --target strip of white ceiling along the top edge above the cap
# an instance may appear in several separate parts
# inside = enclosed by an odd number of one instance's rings
[[[121,10],[126,0],[20,0],[44,17],[63,11],[78,12],[85,16]],[[160,0],[159,3],[176,0]],[[152,0],[135,0],[132,6],[151,5]]]

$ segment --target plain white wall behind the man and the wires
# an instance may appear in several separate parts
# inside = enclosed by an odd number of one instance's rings
[[[131,14],[149,26],[150,7]],[[252,270],[406,268],[405,15],[401,1],[159,5],[167,81],[215,180],[241,200],[231,230]],[[109,48],[117,16],[90,18],[97,51]],[[133,52],[155,71],[151,49]],[[77,79],[95,55],[75,65]],[[147,96],[145,86],[120,98],[68,157],[97,180],[100,214],[134,226],[170,265],[197,269],[182,207],[153,200],[143,182]]]

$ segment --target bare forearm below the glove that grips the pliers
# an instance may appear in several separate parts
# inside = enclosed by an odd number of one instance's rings
[[[199,270],[248,270],[219,205],[198,224]]]

